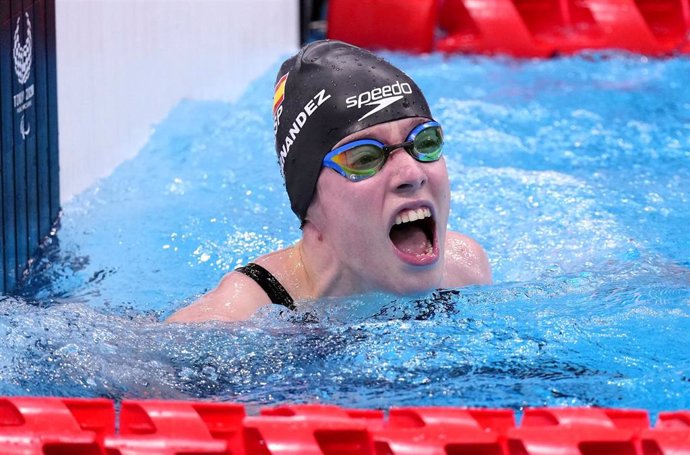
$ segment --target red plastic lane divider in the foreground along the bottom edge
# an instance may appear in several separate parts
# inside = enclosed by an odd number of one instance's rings
[[[116,428],[118,431],[116,431]],[[7,455],[690,455],[690,411],[600,408],[264,408],[0,397]]]

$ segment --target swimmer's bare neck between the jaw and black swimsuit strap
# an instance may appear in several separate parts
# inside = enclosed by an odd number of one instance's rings
[[[367,292],[355,273],[342,264],[318,230],[307,223],[297,244],[304,282],[311,298],[338,297]],[[306,291],[305,289],[305,291]]]

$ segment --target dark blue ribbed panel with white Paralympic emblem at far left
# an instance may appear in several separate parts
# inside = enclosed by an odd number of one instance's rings
[[[0,291],[59,211],[55,0],[0,0]]]

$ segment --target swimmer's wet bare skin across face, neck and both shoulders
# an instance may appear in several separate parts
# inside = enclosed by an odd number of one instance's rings
[[[409,118],[376,125],[344,138],[335,147],[363,138],[398,144],[426,120]],[[403,295],[490,283],[491,269],[481,246],[447,231],[449,201],[444,158],[422,163],[400,148],[376,175],[359,182],[324,168],[302,239],[253,262],[269,270],[298,306],[300,300],[326,296],[373,291]],[[425,254],[406,254],[391,240],[391,227],[396,216],[419,208],[432,214],[433,248]],[[242,320],[269,303],[253,280],[232,272],[216,289],[169,321]]]

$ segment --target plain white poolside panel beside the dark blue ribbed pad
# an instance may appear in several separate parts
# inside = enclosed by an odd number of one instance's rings
[[[57,0],[56,23],[64,203],[135,156],[182,98],[233,100],[294,53],[299,4]]]

